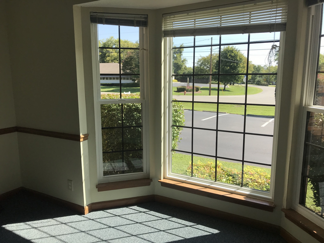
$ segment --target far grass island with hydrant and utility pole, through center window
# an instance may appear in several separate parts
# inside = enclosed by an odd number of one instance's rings
[[[176,87],[172,88],[173,95],[183,95],[183,92],[176,92]],[[211,95],[216,96],[217,95],[217,88],[211,87]],[[194,93],[194,95],[198,96],[208,96],[209,95],[209,87],[201,87],[200,89],[201,93]],[[220,89],[219,90],[219,96],[227,96],[227,95],[244,95],[245,87],[244,86],[229,86],[228,88]],[[255,95],[258,93],[261,93],[262,89],[256,88],[256,87],[248,87],[248,95]],[[192,93],[187,93],[186,95],[192,95]]]

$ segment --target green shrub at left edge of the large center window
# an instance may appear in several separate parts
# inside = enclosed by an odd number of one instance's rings
[[[172,125],[184,125],[184,110],[181,102],[172,102]],[[172,127],[172,149],[177,149],[182,129],[182,127]]]

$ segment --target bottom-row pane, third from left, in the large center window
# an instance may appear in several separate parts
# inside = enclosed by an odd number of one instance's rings
[[[230,159],[217,159],[217,182],[241,185],[242,163]]]

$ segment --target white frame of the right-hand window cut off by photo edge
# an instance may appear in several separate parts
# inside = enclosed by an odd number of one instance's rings
[[[307,51],[307,65],[305,68],[305,83],[303,92],[303,107],[301,111],[301,122],[300,122],[300,140],[299,151],[297,154],[298,165],[295,168],[295,183],[294,185],[294,195],[292,208],[303,215],[304,217],[310,219],[317,225],[323,225],[324,219],[313,213],[311,210],[307,209],[303,205],[299,204],[300,200],[300,190],[302,181],[302,169],[303,169],[303,159],[304,159],[304,144],[306,135],[306,125],[307,125],[307,113],[324,113],[323,106],[313,105],[315,96],[315,85],[316,85],[316,71],[318,65],[318,55],[319,55],[319,41],[321,34],[321,15],[322,7],[321,5],[312,6],[309,9],[309,38],[308,38],[308,51]]]

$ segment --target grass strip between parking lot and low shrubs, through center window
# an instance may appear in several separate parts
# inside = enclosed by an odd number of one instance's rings
[[[197,163],[198,160],[202,163],[215,161],[214,159],[210,159],[210,158],[193,156],[193,163]],[[232,162],[220,161],[220,160],[217,160],[217,161],[221,162],[223,164],[223,166],[226,168],[236,169],[237,171],[242,170],[241,163],[232,163]],[[190,164],[191,164],[191,155],[186,155],[186,154],[182,154],[182,153],[173,153],[172,154],[172,173],[185,175],[185,171]],[[258,166],[251,166],[251,167],[261,168],[267,174],[269,174],[269,175],[271,174],[270,168],[263,168],[263,167],[258,167]]]

